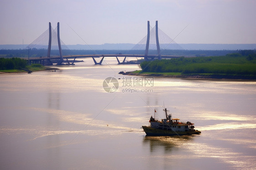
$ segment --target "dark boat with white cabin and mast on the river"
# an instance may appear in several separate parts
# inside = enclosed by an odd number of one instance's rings
[[[164,109],[166,119],[161,121],[156,120],[153,116],[150,117],[149,126],[142,126],[144,132],[148,136],[173,136],[173,135],[200,135],[201,131],[194,130],[194,123],[189,121],[182,122],[179,119],[173,119],[171,114],[167,114],[167,109]],[[156,110],[154,110],[154,114]]]

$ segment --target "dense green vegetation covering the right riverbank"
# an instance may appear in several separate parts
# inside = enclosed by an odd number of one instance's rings
[[[225,56],[191,57],[144,61],[141,73],[181,73],[182,75],[256,76],[256,51],[241,50]]]

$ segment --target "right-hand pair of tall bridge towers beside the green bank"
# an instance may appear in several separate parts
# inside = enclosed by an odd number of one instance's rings
[[[157,53],[158,53],[158,60],[161,60],[161,51],[160,51],[160,45],[159,45],[159,38],[158,38],[158,21],[156,21],[156,47],[157,47]],[[147,35],[147,44],[146,44],[146,50],[145,50],[145,60],[148,60],[148,48],[149,48],[149,39],[150,39],[150,25],[149,25],[149,21],[148,21],[148,35]]]

